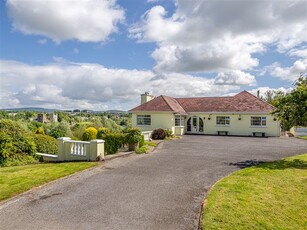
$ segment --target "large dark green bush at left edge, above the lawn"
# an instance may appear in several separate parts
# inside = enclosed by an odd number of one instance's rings
[[[0,162],[10,158],[18,160],[19,155],[36,158],[35,153],[36,147],[30,133],[19,122],[0,120]]]

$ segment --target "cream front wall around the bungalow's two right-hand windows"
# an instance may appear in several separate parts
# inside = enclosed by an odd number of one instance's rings
[[[280,136],[280,123],[278,120],[274,121],[274,116],[270,114],[241,114],[241,120],[239,120],[239,114],[212,114],[211,119],[208,120],[209,114],[192,114],[185,120],[186,124],[190,117],[199,116],[204,121],[204,134],[217,134],[217,131],[228,131],[228,135],[244,135],[250,136],[253,132],[265,132],[266,136]],[[230,125],[217,125],[217,116],[229,116]],[[262,116],[267,117],[266,127],[252,127],[251,117]],[[205,118],[205,119],[204,119]]]

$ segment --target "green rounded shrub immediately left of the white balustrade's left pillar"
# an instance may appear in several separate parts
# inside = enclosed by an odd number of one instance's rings
[[[33,140],[36,145],[37,152],[58,154],[57,140],[48,135],[34,134]]]

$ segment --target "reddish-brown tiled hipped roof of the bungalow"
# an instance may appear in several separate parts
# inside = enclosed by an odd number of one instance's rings
[[[159,96],[140,105],[130,112],[137,111],[169,111],[185,114],[189,112],[255,112],[269,113],[274,107],[247,91],[232,97],[195,97],[172,98]]]

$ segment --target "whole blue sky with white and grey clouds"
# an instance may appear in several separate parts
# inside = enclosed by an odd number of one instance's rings
[[[307,0],[1,0],[0,109],[290,91]]]

